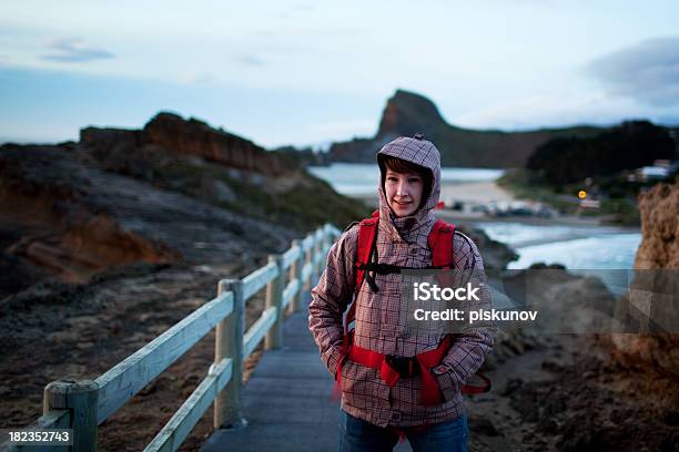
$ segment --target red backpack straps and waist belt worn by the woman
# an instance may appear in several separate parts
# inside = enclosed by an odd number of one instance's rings
[[[369,276],[369,271],[379,274],[397,273],[401,267],[385,265],[385,264],[371,264],[371,255],[375,247],[377,237],[377,227],[379,223],[379,210],[375,210],[371,218],[363,219],[358,224],[358,247],[356,251],[356,284],[354,287],[354,301],[349,306],[349,309],[344,318],[344,339],[343,339],[343,358],[337,363],[337,383],[341,380],[342,363],[345,358],[349,358],[352,361],[358,362],[363,366],[371,367],[377,370],[382,379],[389,386],[396,384],[398,379],[405,373],[417,371],[422,376],[422,399],[424,404],[438,404],[440,400],[440,391],[438,383],[434,376],[430,373],[430,369],[440,363],[449,348],[454,345],[456,335],[446,335],[444,340],[434,350],[419,353],[412,359],[395,359],[389,356],[385,356],[377,351],[364,349],[353,343],[353,330],[349,331],[349,325],[356,318],[356,297],[358,290],[363,285],[364,280],[367,280],[373,291],[379,291],[373,277]],[[455,225],[447,224],[439,219],[432,227],[432,232],[427,238],[427,244],[432,250],[432,266],[429,268],[437,269],[452,269],[454,267],[453,256],[453,234],[455,233]],[[397,362],[397,361],[402,362]],[[403,362],[407,361],[407,368],[404,368]],[[414,369],[415,368],[415,369]],[[417,369],[418,368],[418,369]],[[470,386],[464,384],[462,387],[463,393],[478,394],[488,392],[490,390],[490,379],[480,372],[476,373],[482,380],[483,386]]]

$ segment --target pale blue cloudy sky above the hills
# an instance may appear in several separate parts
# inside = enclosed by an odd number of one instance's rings
[[[469,129],[679,124],[679,1],[0,2],[0,143],[171,111],[318,146],[397,89]]]

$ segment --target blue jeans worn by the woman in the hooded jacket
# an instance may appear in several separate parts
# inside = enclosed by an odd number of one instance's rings
[[[426,429],[402,428],[413,451],[467,452],[467,417],[453,419]],[[382,428],[340,411],[341,452],[392,451],[398,442],[398,434],[389,428]]]

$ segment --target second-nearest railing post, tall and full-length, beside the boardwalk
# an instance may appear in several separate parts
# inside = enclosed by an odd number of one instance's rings
[[[236,429],[245,427],[243,419],[243,335],[245,332],[245,300],[243,281],[222,279],[217,295],[233,291],[233,312],[216,325],[214,342],[214,362],[224,358],[232,360],[231,381],[214,399],[214,428]]]

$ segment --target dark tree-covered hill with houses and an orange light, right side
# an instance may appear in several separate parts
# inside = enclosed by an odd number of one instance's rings
[[[676,146],[665,127],[648,121],[625,122],[589,138],[550,140],[537,147],[527,167],[507,171],[498,184],[519,198],[548,204],[561,214],[639,225],[637,196],[659,179],[637,173],[655,161],[676,160]],[[675,176],[676,170],[660,181]],[[582,207],[580,193],[596,201],[597,207]]]

